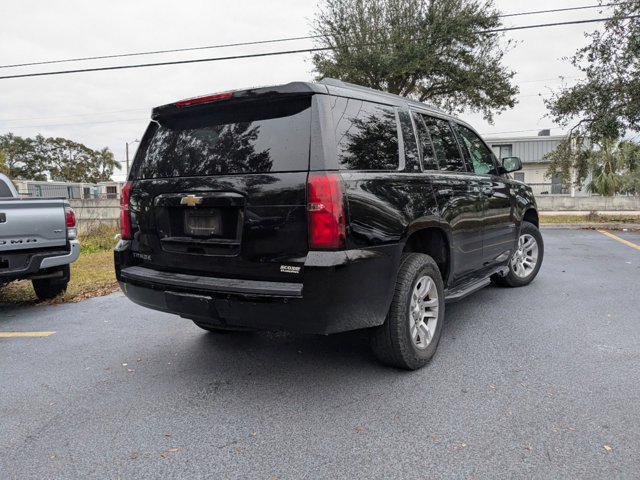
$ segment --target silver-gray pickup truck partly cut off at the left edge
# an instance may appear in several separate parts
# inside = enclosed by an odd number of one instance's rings
[[[0,287],[29,279],[40,300],[67,289],[80,256],[75,213],[64,198],[21,199],[0,174]]]

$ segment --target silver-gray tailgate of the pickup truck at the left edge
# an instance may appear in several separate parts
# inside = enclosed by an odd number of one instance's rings
[[[66,243],[62,200],[0,199],[0,253]]]

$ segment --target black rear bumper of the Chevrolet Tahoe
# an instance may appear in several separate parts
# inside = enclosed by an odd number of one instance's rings
[[[116,275],[133,302],[210,324],[330,334],[380,325],[391,303],[399,262],[396,246],[309,252],[304,282],[201,277],[126,265]]]

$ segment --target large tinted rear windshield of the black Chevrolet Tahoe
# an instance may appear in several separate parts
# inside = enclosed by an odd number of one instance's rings
[[[216,106],[152,122],[133,178],[306,171],[311,97]]]

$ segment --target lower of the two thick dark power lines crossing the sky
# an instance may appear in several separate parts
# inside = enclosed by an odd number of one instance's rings
[[[517,27],[505,27],[505,28],[497,28],[493,30],[483,30],[479,33],[499,33],[499,32],[508,32],[512,30],[527,30],[532,28],[556,27],[561,25],[580,25],[580,24],[586,24],[586,23],[606,22],[608,20],[613,20],[614,18],[624,20],[624,19],[640,18],[640,15],[629,15],[625,17],[594,18],[589,20],[572,20],[567,22],[542,23],[537,25],[521,25]],[[360,46],[371,46],[371,45],[373,44],[364,44]],[[356,45],[352,45],[352,46],[356,46]],[[322,51],[334,50],[334,49],[335,47],[304,48],[304,49],[298,49],[298,50],[281,50],[276,52],[251,53],[246,55],[231,55],[227,57],[198,58],[198,59],[192,59],[192,60],[173,60],[168,62],[138,63],[133,65],[113,65],[109,67],[81,68],[81,69],[75,69],[75,70],[58,70],[53,72],[23,73],[19,75],[0,76],[0,80],[7,80],[10,78],[65,75],[69,73],[103,72],[107,70],[126,70],[126,69],[132,69],[132,68],[160,67],[160,66],[167,66],[167,65],[184,65],[187,63],[219,62],[222,60],[239,60],[239,59],[245,59],[245,58],[260,58],[260,57],[272,57],[272,56],[280,56],[280,55],[291,55],[291,54],[297,54],[297,53],[313,53],[313,52],[322,52]]]

